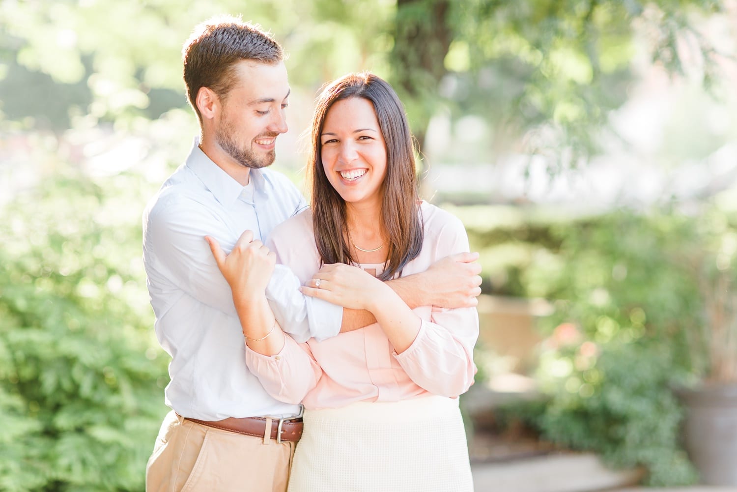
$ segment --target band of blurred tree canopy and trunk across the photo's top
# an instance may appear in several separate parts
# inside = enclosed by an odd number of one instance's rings
[[[390,78],[421,148],[445,107],[495,122],[514,142],[527,134],[531,150],[565,148],[558,162],[575,165],[624,102],[635,36],[671,73],[700,57],[709,83],[713,49],[693,18],[722,10],[719,0],[4,1],[0,92],[13,97],[2,111],[67,128],[75,115],[156,118],[184,107],[178,52],[192,24],[242,12],[284,43],[299,86],[357,69]],[[687,36],[699,53],[678,48]]]

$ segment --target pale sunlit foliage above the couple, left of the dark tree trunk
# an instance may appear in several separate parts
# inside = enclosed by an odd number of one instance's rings
[[[182,44],[195,24],[222,14],[272,32],[290,55],[290,81],[312,95],[346,72],[385,72],[392,10],[368,0],[0,2],[0,92],[15,94],[0,109],[60,131],[77,118],[153,119],[186,108]],[[24,91],[29,84],[37,90]]]

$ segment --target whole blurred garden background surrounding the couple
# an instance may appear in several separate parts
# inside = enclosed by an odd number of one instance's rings
[[[475,465],[737,486],[737,1],[1,0],[0,490],[144,488],[168,356],[141,215],[198,133],[181,46],[219,13],[289,53],[273,167],[299,187],[323,83],[402,97],[423,197],[481,252]]]

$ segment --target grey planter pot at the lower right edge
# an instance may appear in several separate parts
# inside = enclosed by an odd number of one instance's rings
[[[737,486],[737,384],[678,389],[684,445],[704,485]]]

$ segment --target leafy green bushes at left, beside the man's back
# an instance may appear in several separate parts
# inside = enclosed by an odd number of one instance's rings
[[[141,210],[130,207],[137,181],[101,186],[66,170],[4,207],[4,491],[143,490],[167,378],[151,336]]]

